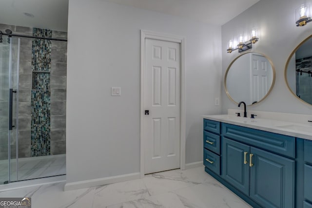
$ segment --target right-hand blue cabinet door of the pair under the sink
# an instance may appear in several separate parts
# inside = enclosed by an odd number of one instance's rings
[[[251,152],[250,197],[265,208],[293,208],[295,162],[253,147]]]

